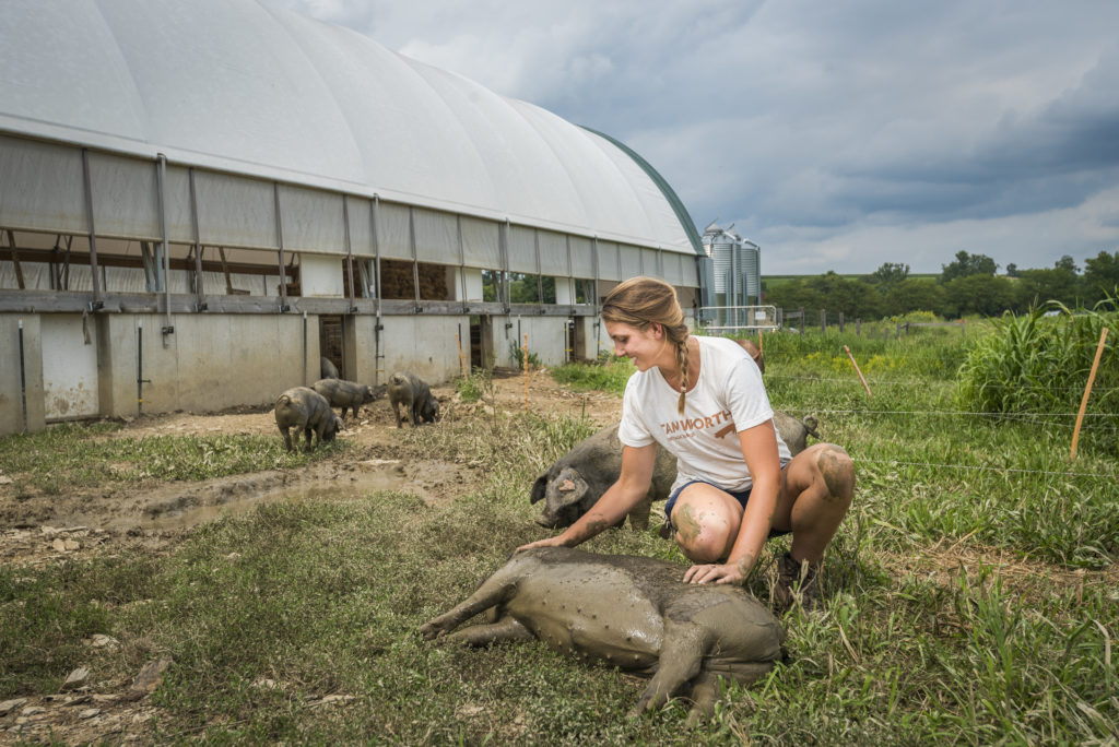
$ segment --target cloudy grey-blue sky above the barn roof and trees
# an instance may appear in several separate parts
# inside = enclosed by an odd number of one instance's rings
[[[278,0],[605,132],[764,274],[1119,252],[1115,0]]]

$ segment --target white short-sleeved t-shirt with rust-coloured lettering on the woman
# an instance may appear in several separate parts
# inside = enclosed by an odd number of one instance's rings
[[[676,455],[675,491],[692,480],[724,490],[750,490],[753,480],[742,457],[739,432],[772,419],[761,371],[739,343],[726,338],[696,335],[699,380],[687,393],[684,414],[677,413],[680,393],[653,366],[637,371],[626,384],[618,438],[627,446],[653,441]],[[792,458],[777,434],[781,464]]]

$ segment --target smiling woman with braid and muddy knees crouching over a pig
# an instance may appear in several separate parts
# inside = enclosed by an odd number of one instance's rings
[[[618,356],[637,371],[626,385],[618,437],[622,470],[598,503],[549,539],[574,547],[620,522],[649,492],[656,444],[676,456],[665,514],[695,565],[690,584],[743,584],[767,538],[792,533],[778,564],[778,612],[819,604],[818,570],[855,489],[850,457],[814,444],[793,457],[773,427],[761,372],[733,340],[688,333],[673,286],[633,277],[602,304]]]

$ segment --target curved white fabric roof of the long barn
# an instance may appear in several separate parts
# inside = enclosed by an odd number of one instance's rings
[[[0,131],[698,250],[610,139],[266,0],[3,4]]]

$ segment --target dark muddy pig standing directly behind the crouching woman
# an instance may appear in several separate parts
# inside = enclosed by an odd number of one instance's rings
[[[773,413],[773,427],[796,456],[805,451],[808,436],[819,438],[816,418],[798,420],[786,413]],[[583,439],[561,456],[533,483],[529,502],[544,500],[544,511],[536,519],[542,527],[570,527],[591,510],[602,494],[618,480],[622,471],[622,444],[618,441],[618,426],[606,426]],[[657,463],[652,473],[649,494],[629,513],[630,526],[645,529],[653,501],[668,500],[668,491],[676,481],[676,457],[657,446]]]

